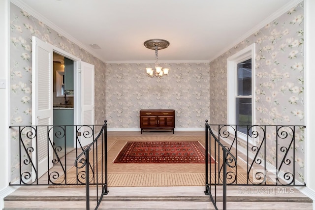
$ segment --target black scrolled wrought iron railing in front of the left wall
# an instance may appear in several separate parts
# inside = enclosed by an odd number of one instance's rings
[[[98,208],[103,195],[108,193],[106,120],[103,125],[10,128],[19,148],[17,158],[11,161],[15,166],[12,174],[17,176],[11,176],[10,185],[82,185],[86,187],[87,206],[92,186]]]

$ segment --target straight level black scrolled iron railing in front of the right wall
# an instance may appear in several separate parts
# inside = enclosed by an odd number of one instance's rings
[[[206,165],[206,185],[306,186],[304,182],[304,125],[208,124],[206,142],[214,163]],[[208,136],[209,135],[209,136]],[[212,144],[211,144],[212,143]],[[224,154],[229,152],[223,172]],[[212,176],[212,180],[210,177]],[[223,195],[224,196],[224,195]],[[215,196],[216,198],[216,196]]]

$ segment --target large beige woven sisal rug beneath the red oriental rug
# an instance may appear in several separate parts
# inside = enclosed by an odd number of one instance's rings
[[[203,163],[113,163],[127,141],[198,141],[205,146],[204,136],[108,137],[108,186],[205,185]],[[246,171],[243,173],[246,174]],[[214,172],[212,178],[215,178]],[[246,181],[245,176],[239,177],[240,179],[242,182]],[[72,167],[67,171],[66,180],[67,183],[76,183],[76,168]]]

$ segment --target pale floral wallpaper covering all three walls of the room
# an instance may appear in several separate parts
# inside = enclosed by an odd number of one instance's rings
[[[11,125],[32,123],[32,36],[95,65],[95,121],[108,128],[139,128],[140,109],[174,109],[176,128],[227,122],[226,59],[256,43],[257,124],[304,124],[303,3],[258,30],[210,63],[161,63],[165,78],[149,78],[153,63],[107,63],[10,4]],[[274,139],[274,135],[268,136]],[[296,137],[296,168],[303,180],[304,135]],[[11,129],[11,177],[18,177],[18,133]],[[274,151],[274,145],[266,145]],[[268,162],[274,156],[268,153]]]

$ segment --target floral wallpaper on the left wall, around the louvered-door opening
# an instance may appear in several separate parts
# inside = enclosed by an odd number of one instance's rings
[[[10,124],[32,123],[32,36],[95,65],[95,120],[102,123],[105,120],[105,63],[13,3],[10,4],[10,27]],[[19,174],[18,140],[18,132],[11,129],[12,180]]]

